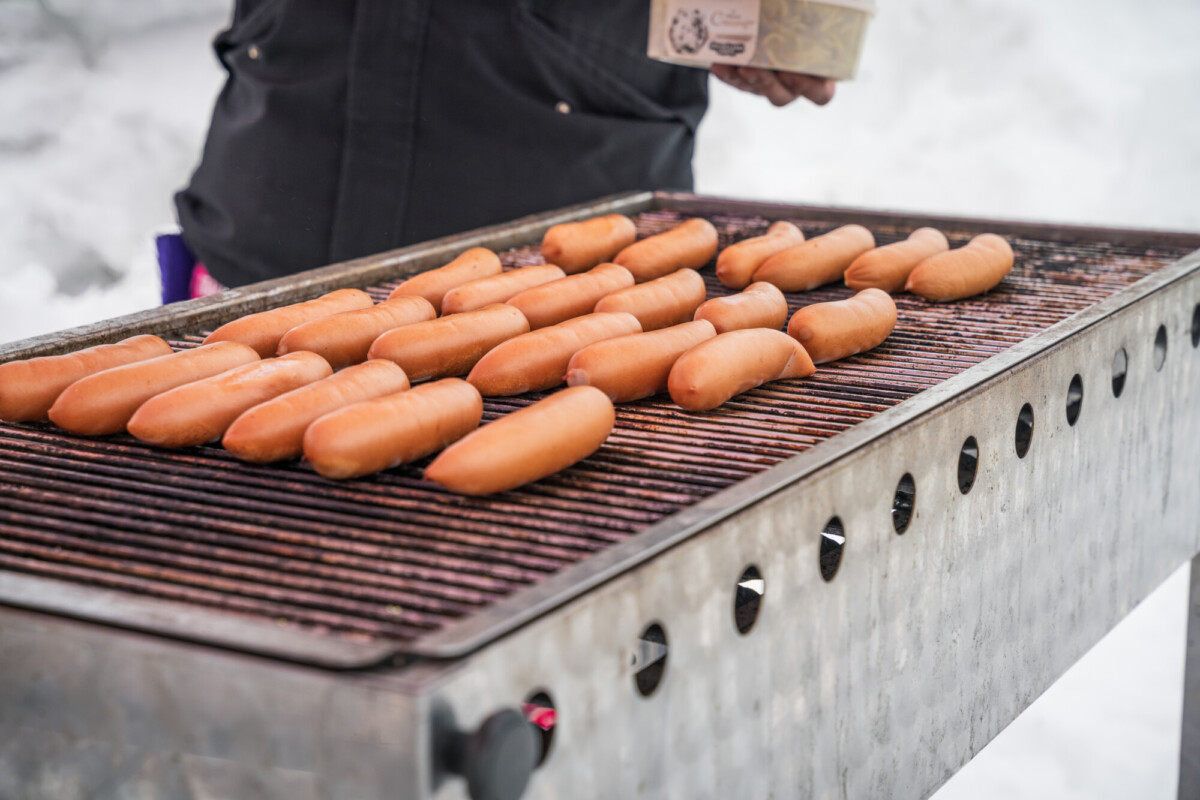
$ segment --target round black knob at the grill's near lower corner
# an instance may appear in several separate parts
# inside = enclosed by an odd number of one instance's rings
[[[467,778],[472,800],[517,800],[538,764],[538,735],[524,715],[504,709],[475,733],[449,736],[445,768]]]

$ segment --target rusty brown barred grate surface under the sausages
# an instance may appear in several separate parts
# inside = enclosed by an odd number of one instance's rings
[[[678,212],[638,217],[640,231]],[[710,216],[722,246],[773,219]],[[853,222],[848,218],[844,222]],[[833,223],[793,218],[808,236]],[[840,224],[840,223],[839,223]],[[908,230],[871,225],[880,243]],[[952,245],[970,236],[946,229]],[[1180,258],[1105,242],[1009,237],[1016,267],[983,297],[896,297],[876,350],[690,414],[660,397],[619,407],[593,457],[491,498],[420,479],[426,462],[332,482],[305,464],[242,464],[217,446],[161,451],[0,423],[0,569],[172,599],[354,640],[412,642],[637,534],[1045,330]],[[504,254],[540,263],[536,247]],[[709,296],[727,294],[712,267]],[[371,287],[382,299],[391,285]],[[791,309],[846,297],[788,295]],[[199,336],[176,342],[194,345]],[[485,420],[532,395],[486,402]]]

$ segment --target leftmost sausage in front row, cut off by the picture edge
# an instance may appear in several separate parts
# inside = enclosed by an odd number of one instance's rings
[[[0,420],[44,420],[62,390],[86,375],[170,355],[157,336],[133,336],[115,344],[97,344],[65,355],[47,355],[0,365]]]

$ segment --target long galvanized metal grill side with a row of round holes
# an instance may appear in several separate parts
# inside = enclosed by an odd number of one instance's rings
[[[929,796],[1200,551],[1198,301],[1192,272],[456,662],[436,697],[469,726],[550,694],[554,739],[530,796]],[[898,535],[905,474],[916,504]],[[845,549],[826,582],[833,516]],[[748,565],[764,594],[740,634]],[[652,622],[668,648],[647,698],[635,663]]]

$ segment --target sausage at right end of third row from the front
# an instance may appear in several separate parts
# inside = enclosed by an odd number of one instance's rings
[[[816,302],[792,314],[787,333],[804,345],[814,363],[836,361],[878,347],[896,325],[896,305],[882,289]]]

